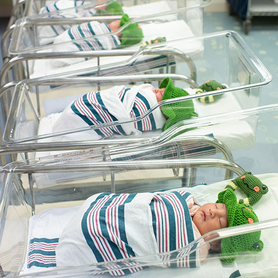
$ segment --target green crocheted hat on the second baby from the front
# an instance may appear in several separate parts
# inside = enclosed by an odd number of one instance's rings
[[[170,77],[165,78],[159,88],[165,88],[162,100],[189,95],[185,90],[175,87]],[[192,99],[164,104],[161,106],[161,112],[168,117],[162,131],[167,130],[179,121],[189,119],[191,116],[198,117],[198,114],[194,112]]]

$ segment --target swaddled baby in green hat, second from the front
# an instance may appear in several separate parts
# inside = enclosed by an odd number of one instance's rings
[[[159,88],[141,84],[132,88],[114,86],[107,90],[86,93],[65,108],[54,123],[52,132],[66,133],[94,125],[135,119],[147,113],[161,100],[186,95],[188,93],[185,90],[173,86],[169,77],[162,81]],[[154,109],[136,122],[60,135],[53,137],[53,140],[93,140],[113,135],[140,135],[141,132],[156,129],[164,131],[191,116],[197,114],[194,113],[193,102],[189,99],[162,105],[160,109]]]

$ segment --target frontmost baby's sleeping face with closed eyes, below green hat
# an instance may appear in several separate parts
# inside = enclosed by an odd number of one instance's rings
[[[193,223],[201,235],[214,230],[227,228],[228,217],[226,205],[223,203],[202,205],[193,216]]]

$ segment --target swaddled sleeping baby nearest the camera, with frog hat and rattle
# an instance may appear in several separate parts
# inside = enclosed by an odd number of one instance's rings
[[[237,186],[247,198],[237,200],[234,193]],[[216,203],[205,203],[204,196],[197,194],[203,205],[184,187],[143,193],[94,194],[74,211],[66,208],[68,218],[61,209],[55,212],[57,217],[60,215],[57,220],[53,219],[53,214],[49,222],[48,218],[44,220],[44,212],[32,217],[38,222],[34,227],[40,227],[36,233],[32,230],[27,269],[84,266],[126,259],[97,266],[100,272],[109,271],[117,276],[142,270],[139,264],[144,260],[148,262],[147,259],[128,259],[151,254],[159,254],[155,263],[162,267],[195,268],[207,258],[209,249],[220,251],[221,260],[231,263],[239,252],[257,253],[263,249],[261,231],[207,242],[213,239],[210,235],[217,234],[212,233],[193,242],[208,232],[258,222],[248,203],[257,202],[267,191],[266,185],[246,172],[229,182],[218,194]],[[47,232],[42,225],[49,226]],[[54,233],[59,225],[59,232]],[[186,249],[188,244],[190,248]],[[46,247],[51,248],[51,257],[47,256]],[[174,250],[177,252],[171,255],[162,254]]]

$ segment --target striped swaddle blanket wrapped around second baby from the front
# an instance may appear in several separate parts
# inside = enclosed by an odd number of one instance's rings
[[[157,103],[151,88],[153,87],[150,84],[142,84],[132,88],[114,86],[107,90],[86,93],[61,113],[54,123],[52,131],[72,131],[82,127],[138,118]],[[89,130],[86,134],[82,133],[82,138],[79,137],[79,140],[101,139],[115,134],[140,135],[142,131],[161,129],[165,121],[160,109],[155,109],[136,122]],[[75,134],[69,136],[74,139]],[[79,135],[76,134],[76,136],[78,139]],[[66,137],[65,135],[63,138]],[[54,137],[53,139],[61,140],[62,138]]]

